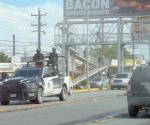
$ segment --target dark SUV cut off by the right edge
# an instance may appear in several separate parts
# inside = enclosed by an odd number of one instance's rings
[[[129,81],[128,112],[136,117],[139,109],[150,107],[150,66],[138,67]]]

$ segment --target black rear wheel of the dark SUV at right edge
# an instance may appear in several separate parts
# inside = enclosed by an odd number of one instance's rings
[[[139,107],[137,106],[128,106],[128,113],[131,117],[137,117]]]

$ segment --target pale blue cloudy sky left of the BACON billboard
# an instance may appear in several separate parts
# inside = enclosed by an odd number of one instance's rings
[[[12,36],[16,36],[16,55],[24,52],[32,55],[37,49],[37,33],[32,32],[37,27],[38,8],[46,16],[42,17],[42,27],[46,35],[42,35],[42,51],[51,51],[54,46],[54,26],[63,20],[63,0],[0,0],[0,51],[12,56]]]

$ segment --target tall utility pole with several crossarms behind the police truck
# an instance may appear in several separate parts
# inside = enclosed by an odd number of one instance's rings
[[[33,32],[37,32],[38,33],[38,49],[41,50],[41,33],[45,34],[45,31],[41,30],[42,26],[46,26],[46,23],[42,24],[41,23],[41,17],[42,16],[46,16],[46,14],[42,14],[41,10],[38,8],[38,14],[31,14],[31,16],[35,16],[38,17],[38,23],[37,24],[32,24],[32,26],[36,26],[37,30],[33,31]]]

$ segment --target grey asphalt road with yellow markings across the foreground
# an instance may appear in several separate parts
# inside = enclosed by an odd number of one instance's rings
[[[12,102],[0,106],[0,125],[149,125],[149,113],[129,118],[124,92],[74,93],[66,102],[46,98],[42,105]]]

